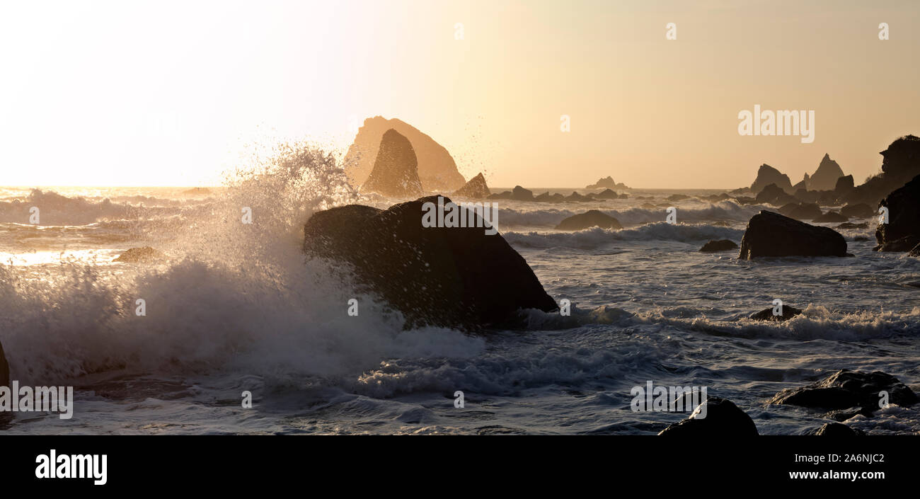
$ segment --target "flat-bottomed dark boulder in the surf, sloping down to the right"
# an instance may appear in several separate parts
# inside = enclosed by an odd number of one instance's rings
[[[788,216],[762,210],[744,230],[738,258],[785,256],[846,256],[846,240],[833,228],[811,226]]]

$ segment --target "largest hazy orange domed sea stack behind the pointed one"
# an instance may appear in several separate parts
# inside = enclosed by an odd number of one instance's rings
[[[389,130],[396,130],[406,137],[415,150],[422,190],[450,192],[464,186],[466,180],[457,171],[454,158],[443,145],[434,142],[430,136],[407,122],[396,118],[387,120],[382,116],[364,120],[345,154],[343,164],[351,185],[357,187],[367,181],[374,168],[374,158],[378,156],[384,133]]]

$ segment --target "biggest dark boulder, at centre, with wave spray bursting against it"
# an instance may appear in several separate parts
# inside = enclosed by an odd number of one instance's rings
[[[515,327],[518,309],[558,309],[499,234],[487,235],[482,227],[423,227],[426,202],[437,205],[438,196],[387,210],[350,204],[316,213],[304,227],[304,249],[350,263],[359,283],[404,314],[407,328]]]

